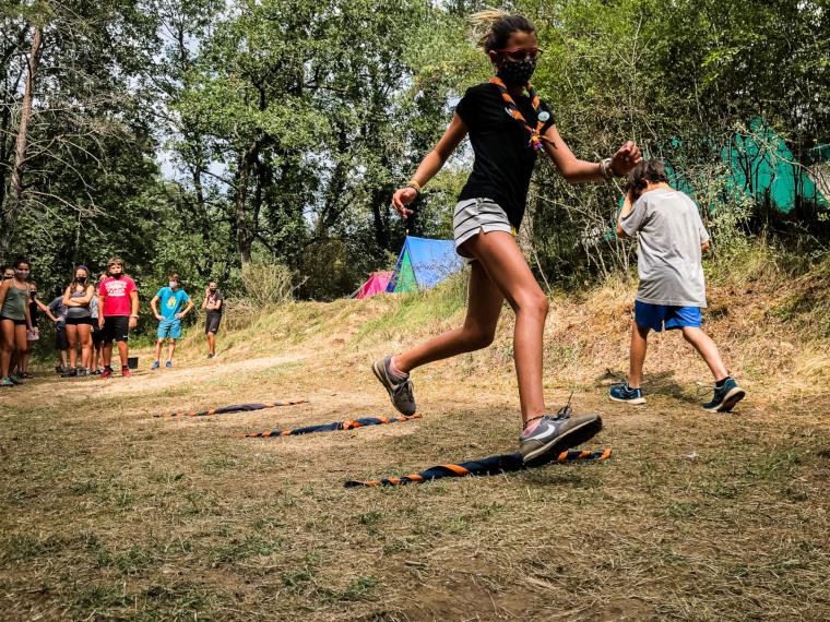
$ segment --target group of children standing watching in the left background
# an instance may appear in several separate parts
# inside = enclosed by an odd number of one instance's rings
[[[129,378],[129,335],[139,319],[139,290],[135,282],[124,274],[123,262],[114,258],[107,271],[93,282],[86,266],[78,266],[62,296],[48,304],[37,298],[37,287],[29,279],[29,264],[24,260],[3,271],[0,285],[0,387],[12,387],[31,378],[28,358],[39,340],[39,314],[44,313],[56,326],[56,349],[61,376],[112,375],[112,344],[118,348],[121,375]],[[216,356],[215,336],[222,319],[224,299],[216,282],[205,290],[202,309],[206,312],[205,334],[209,358]],[[159,307],[161,304],[161,307]],[[171,274],[150,303],[158,320],[155,360],[152,369],[161,367],[165,340],[169,342],[165,367],[173,367],[176,339],[181,337],[181,319],[193,309],[193,302],[181,288],[178,274]],[[80,350],[80,357],[79,357]]]

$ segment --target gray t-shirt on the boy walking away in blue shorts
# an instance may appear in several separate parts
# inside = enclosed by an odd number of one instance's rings
[[[671,307],[706,307],[700,246],[709,234],[698,206],[679,190],[644,192],[620,220],[626,235],[638,237],[637,300]]]

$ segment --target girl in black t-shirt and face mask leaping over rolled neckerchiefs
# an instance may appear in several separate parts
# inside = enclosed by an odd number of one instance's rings
[[[453,217],[455,249],[471,263],[464,325],[398,356],[375,361],[372,371],[401,412],[415,411],[410,372],[423,364],[487,347],[493,343],[505,299],[515,312],[513,352],[523,431],[520,451],[529,466],[544,464],[602,429],[597,415],[571,418],[568,409],[548,415],[542,390],[542,345],[548,300],[519,246],[515,231],[524,215],[531,175],[545,151],[571,183],[624,176],[642,158],[629,141],[600,163],[577,159],[556,129],[553,112],[540,100],[531,76],[538,49],[536,29],[522,15],[484,11],[473,15],[496,76],[469,88],[450,127],[424,158],[405,188],[392,198],[406,218],[407,205],[441,169],[465,135],[475,154],[473,171]]]

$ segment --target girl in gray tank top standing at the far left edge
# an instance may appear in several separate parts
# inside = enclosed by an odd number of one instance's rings
[[[0,386],[19,383],[11,375],[12,355],[20,360],[26,351],[26,331],[32,330],[28,314],[28,262],[14,262],[14,278],[0,285]]]

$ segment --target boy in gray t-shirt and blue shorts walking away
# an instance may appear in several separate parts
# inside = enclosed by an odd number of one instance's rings
[[[707,306],[701,253],[709,248],[698,206],[668,186],[660,160],[637,165],[617,223],[620,238],[638,238],[640,287],[635,301],[628,382],[615,385],[610,398],[644,404],[642,367],[649,331],[679,328],[700,352],[715,380],[714,397],[703,404],[712,412],[728,411],[746,392],[730,376],[718,346],[701,328],[700,309]]]

